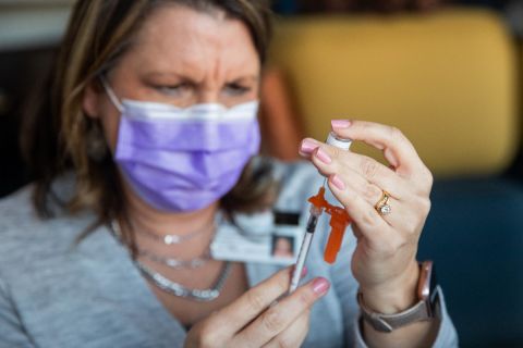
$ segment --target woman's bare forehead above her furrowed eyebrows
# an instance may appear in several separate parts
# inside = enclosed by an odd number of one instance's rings
[[[132,53],[156,67],[257,67],[247,26],[222,11],[202,12],[169,4],[156,9],[137,34]]]

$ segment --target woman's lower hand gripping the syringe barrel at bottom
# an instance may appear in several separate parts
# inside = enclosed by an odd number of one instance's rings
[[[318,277],[280,299],[289,290],[291,272],[292,268],[279,271],[195,324],[184,347],[300,347],[308,332],[311,307],[330,284]]]

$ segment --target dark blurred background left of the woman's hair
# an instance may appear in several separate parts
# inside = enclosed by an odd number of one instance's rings
[[[19,150],[28,97],[51,69],[71,0],[0,0],[0,196],[29,181]]]

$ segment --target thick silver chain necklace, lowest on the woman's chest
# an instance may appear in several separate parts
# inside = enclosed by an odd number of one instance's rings
[[[118,221],[111,221],[110,229],[114,234],[117,239],[120,241],[120,244],[122,244],[122,234]],[[150,279],[153,284],[155,284],[161,290],[177,297],[190,298],[199,302],[209,302],[220,296],[220,291],[223,288],[223,285],[226,284],[229,274],[231,273],[232,266],[231,262],[229,261],[223,264],[221,272],[218,275],[218,278],[216,279],[212,287],[208,289],[190,289],[179,283],[170,281],[161,273],[150,270],[137,260],[134,260],[134,264],[146,278]]]

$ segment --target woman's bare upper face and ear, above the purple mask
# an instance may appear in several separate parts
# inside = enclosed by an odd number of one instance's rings
[[[258,53],[241,21],[166,5],[144,23],[108,82],[120,100],[233,107],[257,99],[259,75]],[[87,88],[83,107],[88,116],[100,119],[114,151],[120,112],[94,87]]]

